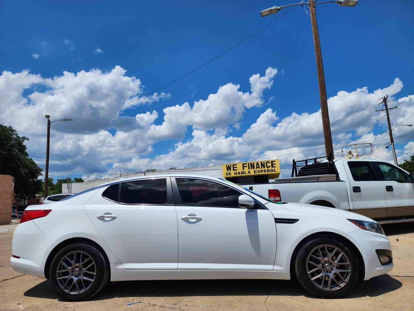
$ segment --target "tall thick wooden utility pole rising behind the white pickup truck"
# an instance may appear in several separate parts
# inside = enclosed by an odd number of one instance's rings
[[[332,154],[332,159],[333,159],[334,150],[332,146],[331,125],[329,121],[328,101],[326,98],[325,75],[323,73],[322,53],[320,51],[318,23],[316,22],[314,0],[309,0],[309,10],[310,10],[310,22],[312,24],[313,44],[315,45],[316,69],[318,70],[320,112],[322,114],[322,127],[323,127],[323,137],[325,139],[325,151],[326,151],[326,156]]]

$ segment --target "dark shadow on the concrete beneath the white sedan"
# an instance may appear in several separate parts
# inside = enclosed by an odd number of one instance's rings
[[[375,297],[395,291],[402,283],[389,275],[359,281],[345,298]],[[316,298],[297,281],[283,280],[181,280],[128,281],[109,283],[92,301],[116,297],[179,297],[179,296],[306,296]],[[24,296],[58,299],[48,280],[32,287]]]

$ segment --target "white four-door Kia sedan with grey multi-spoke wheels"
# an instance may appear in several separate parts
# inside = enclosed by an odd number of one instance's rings
[[[109,280],[291,277],[332,298],[392,270],[390,241],[372,219],[279,203],[213,177],[119,180],[26,209],[10,261],[71,301]]]

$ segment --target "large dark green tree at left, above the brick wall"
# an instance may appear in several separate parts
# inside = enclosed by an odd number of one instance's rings
[[[0,174],[14,177],[14,194],[18,199],[34,197],[42,190],[42,169],[29,157],[24,141],[12,126],[0,124]]]

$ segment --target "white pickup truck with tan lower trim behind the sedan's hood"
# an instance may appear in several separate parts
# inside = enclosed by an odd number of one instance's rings
[[[274,201],[345,209],[381,224],[414,221],[414,174],[387,161],[294,161],[294,175],[243,186]]]

